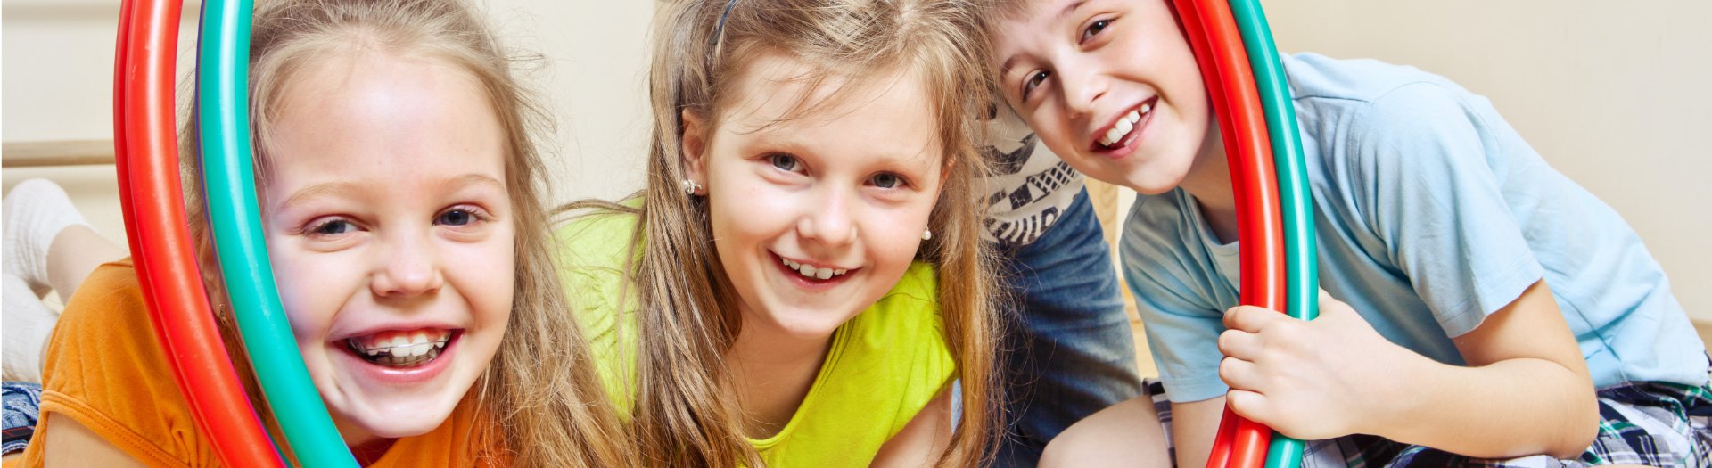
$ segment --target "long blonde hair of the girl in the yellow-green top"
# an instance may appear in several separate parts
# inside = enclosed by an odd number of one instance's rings
[[[916,70],[926,79],[947,180],[930,216],[933,240],[918,259],[938,271],[945,341],[962,382],[962,415],[938,465],[972,466],[996,437],[996,321],[990,254],[981,242],[981,183],[986,165],[974,149],[978,113],[990,93],[986,39],[964,14],[966,0],[688,0],[663,5],[654,27],[649,93],[654,137],[642,207],[584,202],[577,207],[632,211],[644,255],[627,267],[639,300],[635,410],[628,425],[645,465],[758,466],[740,434],[740,410],[722,399],[729,382],[722,353],[741,321],[736,293],[714,250],[707,206],[685,197],[681,115],[719,122],[738,89],[734,77],[765,51],[817,69],[811,84],[859,81],[877,70]],[[716,36],[717,34],[717,36]],[[811,93],[806,93],[811,94]],[[835,98],[830,98],[835,99]],[[803,103],[796,113],[813,111]],[[793,118],[793,117],[786,117]],[[859,422],[858,422],[859,423]]]

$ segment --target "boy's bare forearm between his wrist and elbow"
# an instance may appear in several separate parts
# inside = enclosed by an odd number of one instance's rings
[[[1551,360],[1457,367],[1418,357],[1397,375],[1385,389],[1395,411],[1376,415],[1368,434],[1474,458],[1575,458],[1599,427],[1592,384]]]

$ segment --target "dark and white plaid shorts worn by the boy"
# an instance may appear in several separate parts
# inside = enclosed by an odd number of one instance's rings
[[[1164,396],[1164,386],[1147,379],[1147,396],[1152,398],[1159,423],[1166,429],[1166,444],[1171,444],[1171,403]],[[1712,466],[1712,387],[1635,382],[1599,389],[1597,398],[1599,435],[1575,459],[1544,454],[1481,459],[1356,434],[1310,441],[1303,453],[1303,466]]]

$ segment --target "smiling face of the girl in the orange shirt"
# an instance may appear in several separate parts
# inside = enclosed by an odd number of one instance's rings
[[[318,60],[284,89],[262,189],[279,295],[346,442],[425,434],[510,319],[508,147],[454,65]]]

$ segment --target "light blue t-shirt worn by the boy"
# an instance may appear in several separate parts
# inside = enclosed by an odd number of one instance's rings
[[[1544,278],[1599,387],[1707,381],[1669,279],[1609,206],[1546,165],[1491,103],[1375,60],[1284,57],[1303,130],[1320,285],[1387,339],[1460,365],[1472,331]],[[1123,269],[1171,401],[1228,391],[1238,247],[1181,189],[1140,195]]]

